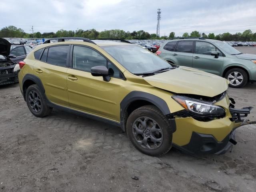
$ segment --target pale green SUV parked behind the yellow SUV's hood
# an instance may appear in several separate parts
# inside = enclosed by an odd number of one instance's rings
[[[256,82],[256,55],[243,54],[222,41],[174,38],[165,41],[156,54],[169,63],[222,76],[233,88]]]

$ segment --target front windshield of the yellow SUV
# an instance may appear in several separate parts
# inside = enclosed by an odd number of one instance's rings
[[[133,74],[142,74],[172,66],[137,45],[102,46],[113,58]]]

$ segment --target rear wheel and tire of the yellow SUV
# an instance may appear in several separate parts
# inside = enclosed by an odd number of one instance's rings
[[[26,102],[30,112],[36,117],[45,117],[52,112],[52,108],[47,106],[46,98],[38,85],[30,85],[26,90]]]

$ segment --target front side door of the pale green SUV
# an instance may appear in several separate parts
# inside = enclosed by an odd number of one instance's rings
[[[211,55],[212,51],[217,51],[219,55],[217,57]],[[196,41],[193,54],[193,68],[221,75],[223,61],[224,57],[222,52],[213,44],[204,41]]]

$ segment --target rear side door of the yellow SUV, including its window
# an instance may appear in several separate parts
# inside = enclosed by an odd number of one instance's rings
[[[41,52],[40,52],[41,51]],[[50,46],[34,52],[36,58],[33,71],[40,78],[48,100],[63,106],[69,106],[67,92],[67,70],[70,45]]]

